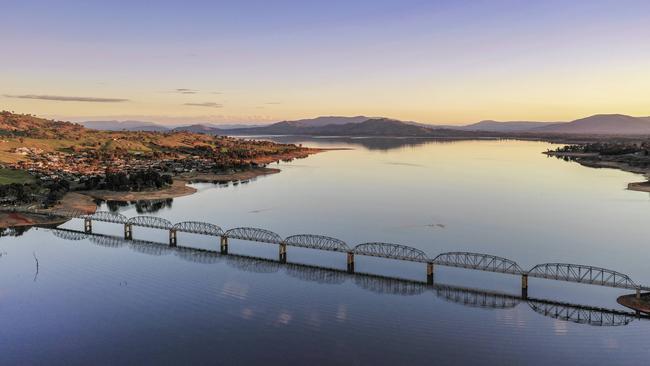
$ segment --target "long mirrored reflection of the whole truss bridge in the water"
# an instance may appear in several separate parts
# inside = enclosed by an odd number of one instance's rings
[[[225,262],[238,270],[254,273],[274,273],[284,270],[290,277],[319,284],[340,285],[350,281],[362,289],[378,294],[415,296],[434,293],[437,297],[446,301],[486,309],[511,309],[521,303],[526,303],[538,314],[578,324],[620,326],[627,325],[635,319],[649,319],[647,316],[630,311],[571,304],[483,289],[421,282],[361,272],[350,273],[346,270],[315,265],[287,263],[286,261],[239,254],[224,254],[221,251],[178,245],[169,246],[159,242],[129,240],[122,237],[84,233],[68,229],[51,229],[51,231],[55,236],[65,240],[87,239],[91,243],[106,248],[127,247],[147,255],[174,255],[192,263],[214,264]]]

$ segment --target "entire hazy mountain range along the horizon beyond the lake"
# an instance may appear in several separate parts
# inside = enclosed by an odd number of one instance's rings
[[[571,122],[485,120],[465,126],[428,125],[389,118],[325,116],[269,125],[192,124],[164,126],[142,121],[88,121],[100,130],[189,131],[214,135],[470,137],[497,135],[650,135],[650,117],[598,114]]]

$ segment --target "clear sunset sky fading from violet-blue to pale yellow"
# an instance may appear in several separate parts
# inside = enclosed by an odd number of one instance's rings
[[[63,120],[650,116],[650,1],[0,0],[0,109]]]

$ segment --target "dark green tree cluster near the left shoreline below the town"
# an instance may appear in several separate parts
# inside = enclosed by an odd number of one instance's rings
[[[133,172],[106,172],[104,177],[85,179],[86,189],[108,189],[111,191],[142,191],[160,189],[173,183],[172,176],[148,169]]]

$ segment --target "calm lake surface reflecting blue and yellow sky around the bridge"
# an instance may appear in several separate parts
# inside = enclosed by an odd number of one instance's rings
[[[638,175],[547,158],[541,152],[552,145],[539,142],[303,143],[351,149],[281,163],[280,174],[247,184],[197,184],[192,196],[119,210],[282,237],[400,243],[430,256],[483,252],[525,269],[590,264],[650,284],[650,196],[625,190]],[[82,230],[83,222],[62,227]],[[164,231],[136,227],[141,241],[128,242],[119,225],[93,229],[104,236],[32,229],[0,238],[0,364],[642,364],[650,357],[650,321],[579,324],[545,314],[539,303],[491,295],[516,297],[514,276],[437,268],[430,288],[404,281],[423,281],[424,265],[358,258],[357,271],[386,277],[352,276],[341,271],[340,253],[290,247],[290,264],[281,265],[274,245],[232,240],[233,255],[221,256],[170,249]],[[215,250],[218,238],[179,234],[179,246]],[[529,290],[537,299],[618,310],[625,293],[537,279]]]

